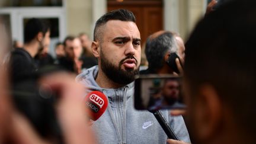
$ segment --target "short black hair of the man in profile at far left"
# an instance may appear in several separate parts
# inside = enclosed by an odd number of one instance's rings
[[[30,43],[30,41],[33,40],[40,32],[43,33],[43,36],[45,36],[49,28],[50,27],[46,21],[37,18],[31,18],[25,24],[24,43]]]

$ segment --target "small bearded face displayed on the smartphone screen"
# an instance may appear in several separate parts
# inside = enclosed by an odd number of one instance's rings
[[[162,95],[171,100],[177,100],[180,94],[180,84],[175,80],[167,80],[162,88]]]

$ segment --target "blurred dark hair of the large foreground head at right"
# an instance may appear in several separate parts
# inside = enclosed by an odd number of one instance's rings
[[[191,100],[215,88],[240,128],[256,129],[256,1],[233,1],[206,15],[185,44],[184,75]]]

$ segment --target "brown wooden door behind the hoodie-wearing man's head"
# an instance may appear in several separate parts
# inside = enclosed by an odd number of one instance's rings
[[[107,2],[108,11],[129,9],[135,14],[142,44],[150,34],[163,30],[162,7],[162,0],[108,0]]]

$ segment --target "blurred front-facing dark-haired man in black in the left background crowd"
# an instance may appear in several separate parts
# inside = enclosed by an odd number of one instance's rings
[[[82,45],[78,37],[68,36],[63,42],[65,56],[58,59],[60,66],[76,74],[82,71]]]

